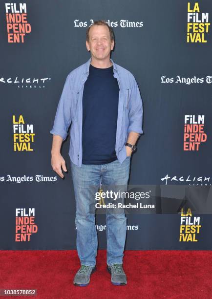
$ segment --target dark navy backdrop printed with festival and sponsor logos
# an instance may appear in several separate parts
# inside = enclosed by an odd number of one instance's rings
[[[67,75],[90,58],[85,32],[96,20],[113,28],[111,58],[135,76],[144,107],[126,249],[212,249],[209,0],[0,2],[0,249],[76,248],[70,136],[61,179],[50,130]],[[96,228],[105,249],[100,211]]]

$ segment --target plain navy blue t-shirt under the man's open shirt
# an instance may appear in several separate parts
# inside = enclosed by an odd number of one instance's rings
[[[83,91],[83,164],[106,164],[117,160],[115,152],[119,85],[113,65],[90,64]]]

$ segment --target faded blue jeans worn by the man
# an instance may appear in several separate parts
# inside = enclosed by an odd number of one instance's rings
[[[71,173],[76,200],[77,252],[81,265],[96,265],[97,231],[95,225],[95,192],[100,181],[103,191],[111,186],[121,186],[127,191],[130,157],[122,164],[115,160],[102,165],[82,165],[79,168],[71,162]],[[113,191],[113,190],[112,190]],[[115,211],[116,210],[116,211]],[[124,209],[106,209],[107,265],[123,263],[123,252],[127,232],[127,219]]]

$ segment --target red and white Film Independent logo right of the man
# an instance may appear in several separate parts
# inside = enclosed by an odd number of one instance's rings
[[[207,134],[204,132],[205,115],[185,115],[184,150],[199,150],[201,142],[206,142]]]

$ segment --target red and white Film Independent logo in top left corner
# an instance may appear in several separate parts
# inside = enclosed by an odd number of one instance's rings
[[[24,43],[25,34],[31,32],[26,3],[5,3],[5,10],[8,43]]]

